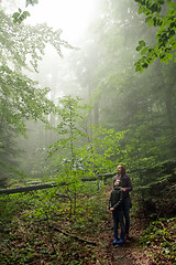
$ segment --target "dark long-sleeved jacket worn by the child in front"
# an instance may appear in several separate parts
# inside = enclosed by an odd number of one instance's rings
[[[121,187],[114,187],[109,199],[109,209],[123,210],[124,192],[121,191]]]

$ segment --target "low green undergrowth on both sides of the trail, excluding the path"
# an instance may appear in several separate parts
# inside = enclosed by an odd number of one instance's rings
[[[88,192],[81,188],[74,210],[70,197],[59,195],[61,190],[53,188],[0,197],[1,265],[97,263],[95,243],[101,243],[109,219],[109,191],[103,184]],[[175,241],[176,218],[152,222],[142,236],[150,265],[176,264]],[[107,264],[106,258],[99,262]]]

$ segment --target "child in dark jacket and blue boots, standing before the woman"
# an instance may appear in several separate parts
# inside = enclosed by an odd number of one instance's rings
[[[117,180],[113,184],[113,190],[110,194],[109,200],[109,209],[112,212],[113,218],[113,234],[114,241],[113,245],[116,244],[123,244],[124,243],[124,221],[123,221],[123,202],[124,202],[124,192],[121,191],[120,180]],[[118,226],[120,224],[121,227],[121,236],[118,240]]]

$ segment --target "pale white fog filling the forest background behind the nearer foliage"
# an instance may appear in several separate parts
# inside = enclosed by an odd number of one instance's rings
[[[2,1],[2,8],[9,14],[18,8],[24,10],[25,4],[21,4],[21,1]],[[34,30],[38,23],[59,30],[61,43],[70,45],[61,45],[61,56],[54,45],[47,43],[45,54],[37,61],[37,72],[26,68],[22,72],[37,81],[37,87],[50,87],[46,97],[61,109],[64,103],[59,99],[65,96],[80,97],[81,104],[89,104],[92,109],[85,108],[82,118],[77,119],[75,126],[86,131],[90,139],[90,125],[103,126],[114,132],[128,131],[117,149],[127,150],[131,146],[128,156],[120,153],[118,158],[125,159],[131,167],[150,166],[157,159],[175,156],[173,141],[167,139],[167,134],[173,136],[175,131],[175,77],[172,74],[175,63],[165,65],[156,60],[143,73],[135,72],[134,63],[141,56],[136,51],[139,41],[145,40],[147,45],[156,42],[156,28],[150,28],[138,9],[135,1],[123,0],[40,0],[34,7],[26,8],[31,17],[22,22]],[[47,125],[38,118],[24,118],[26,138],[19,135],[15,138],[19,151],[14,157],[18,169],[28,179],[53,178],[58,171],[56,165],[70,158],[70,153],[59,147],[56,153],[62,158],[48,159],[51,145],[56,148],[55,142],[67,135],[62,135],[57,127],[64,117],[59,112],[44,115]],[[82,145],[80,138],[76,138],[75,147]],[[151,146],[153,139],[155,148]],[[114,163],[117,153],[114,151],[110,158]]]

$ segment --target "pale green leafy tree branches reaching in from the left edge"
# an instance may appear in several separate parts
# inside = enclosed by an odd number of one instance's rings
[[[61,56],[61,46],[70,46],[61,40],[61,31],[53,31],[46,25],[16,25],[2,10],[0,18],[0,151],[3,157],[1,166],[6,165],[7,170],[10,167],[10,149],[4,136],[11,137],[12,141],[15,131],[25,135],[24,119],[46,121],[45,116],[55,110],[54,103],[46,97],[50,89],[41,88],[24,72],[37,71],[37,61],[42,59],[47,43]]]

